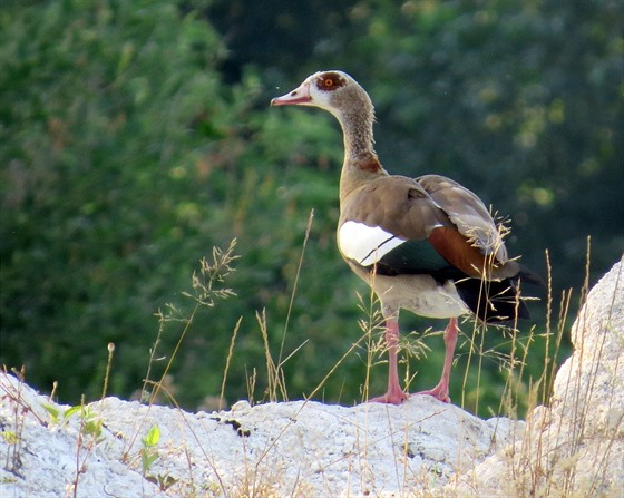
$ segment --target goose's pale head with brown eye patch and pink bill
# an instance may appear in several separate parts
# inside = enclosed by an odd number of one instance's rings
[[[309,76],[294,90],[271,100],[271,105],[320,107],[341,123],[354,114],[373,120],[373,107],[368,94],[351,76],[339,70]]]

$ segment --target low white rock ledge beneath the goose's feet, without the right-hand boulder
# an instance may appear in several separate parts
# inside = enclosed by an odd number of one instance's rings
[[[430,397],[354,408],[241,401],[196,414],[107,398],[89,406],[101,434],[80,442],[79,412],[52,421],[41,408],[51,403],[11,375],[0,375],[0,392],[2,430],[21,436],[0,443],[12,470],[0,473],[2,497],[71,496],[77,477],[79,497],[404,496],[472,468],[523,426]],[[146,473],[163,488],[175,479],[164,491],[142,476],[142,439],[154,426],[158,458]]]

